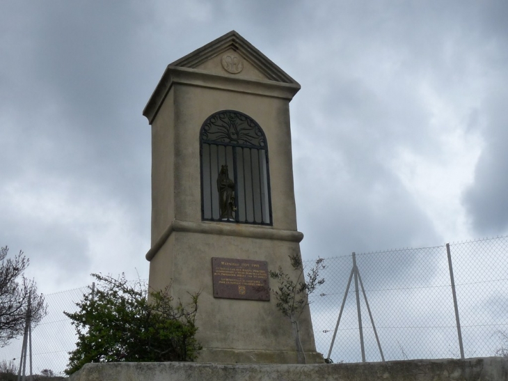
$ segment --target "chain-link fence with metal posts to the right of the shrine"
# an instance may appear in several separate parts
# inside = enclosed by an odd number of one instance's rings
[[[310,297],[317,350],[335,362],[449,358],[461,357],[461,340],[465,357],[495,355],[507,344],[508,237],[448,248],[327,258]]]

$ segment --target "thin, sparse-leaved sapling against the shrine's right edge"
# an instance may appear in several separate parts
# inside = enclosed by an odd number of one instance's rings
[[[298,362],[299,364],[305,364],[305,352],[300,341],[299,318],[305,306],[310,304],[309,295],[324,283],[323,278],[319,279],[319,271],[324,270],[324,259],[317,258],[315,266],[307,273],[307,281],[305,281],[303,274],[304,268],[301,256],[293,254],[289,256],[289,261],[294,272],[296,272],[296,281],[293,280],[295,279],[294,276],[286,274],[279,266],[276,272],[270,270],[270,278],[278,281],[278,288],[272,288],[271,291],[273,296],[276,297],[276,306],[279,311],[291,320]]]

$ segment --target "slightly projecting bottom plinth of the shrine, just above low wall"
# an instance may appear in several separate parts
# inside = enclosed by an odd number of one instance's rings
[[[318,352],[305,352],[307,364],[324,364],[323,355]],[[198,362],[219,364],[298,364],[296,351],[285,350],[237,350],[222,348],[203,348]]]

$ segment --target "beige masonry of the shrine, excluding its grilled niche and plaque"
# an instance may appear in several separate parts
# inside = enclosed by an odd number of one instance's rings
[[[289,102],[299,89],[232,31],[168,65],[143,111],[152,125],[149,286],[160,290],[171,284],[171,295],[183,303],[200,291],[196,339],[204,350],[199,361],[297,362],[291,321],[276,300],[216,297],[221,295],[214,295],[212,258],[263,261],[268,270],[280,266],[296,281],[288,256],[300,255],[303,234],[296,224]],[[200,130],[209,116],[224,110],[253,118],[266,135],[271,225],[203,219]],[[324,362],[315,349],[308,308],[299,328],[308,362]]]

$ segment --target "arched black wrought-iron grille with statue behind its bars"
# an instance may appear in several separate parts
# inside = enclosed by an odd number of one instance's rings
[[[200,130],[200,155],[204,220],[271,225],[267,138],[255,120],[212,114]]]

